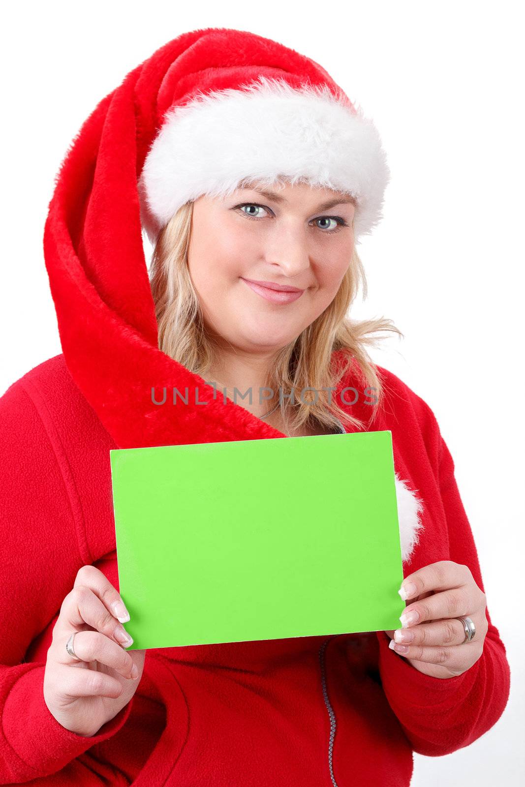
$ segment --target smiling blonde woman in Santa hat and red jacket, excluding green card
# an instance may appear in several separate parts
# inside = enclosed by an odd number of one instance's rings
[[[243,31],[180,35],[83,125],[44,235],[63,353],[0,402],[2,783],[409,785],[412,752],[453,752],[501,716],[505,647],[452,457],[431,408],[368,357],[397,329],[346,320],[387,180],[327,72]],[[159,405],[172,387],[198,399]],[[110,449],[385,429],[395,638],[126,651]]]

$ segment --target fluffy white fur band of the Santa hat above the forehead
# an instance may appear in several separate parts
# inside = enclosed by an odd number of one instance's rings
[[[185,202],[226,197],[247,179],[351,194],[357,241],[383,217],[390,171],[375,125],[342,91],[261,75],[242,89],[199,93],[168,110],[142,168],[141,220],[150,241]]]

